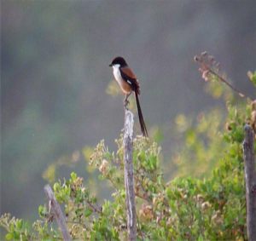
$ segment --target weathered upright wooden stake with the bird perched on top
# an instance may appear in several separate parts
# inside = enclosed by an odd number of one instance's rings
[[[133,164],[132,164],[132,139],[133,139],[133,114],[125,109],[125,131],[124,131],[124,160],[125,160],[125,192],[127,209],[127,228],[130,241],[136,240],[137,221],[135,208]]]

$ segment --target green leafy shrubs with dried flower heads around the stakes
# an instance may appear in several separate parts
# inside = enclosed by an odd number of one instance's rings
[[[202,77],[209,82],[209,93],[223,98],[227,114],[216,110],[201,113],[195,124],[183,115],[176,118],[177,131],[185,140],[172,158],[180,171],[171,181],[165,181],[162,174],[160,146],[143,136],[134,139],[138,240],[247,240],[241,143],[244,124],[256,126],[256,102],[249,97],[236,100],[236,90],[220,83],[223,76],[214,60],[205,54],[198,58]],[[248,77],[256,86],[256,72],[249,72]],[[98,200],[75,173],[53,185],[73,239],[126,238],[122,135],[115,142],[117,152],[109,151],[104,141],[90,153],[90,158],[84,149],[91,169],[100,173],[100,181],[108,181],[111,199]],[[195,166],[197,173],[193,173]],[[202,177],[202,173],[207,176]],[[32,226],[3,215],[0,226],[7,231],[5,238],[59,240],[61,233],[46,204],[39,206],[38,214],[40,219]]]

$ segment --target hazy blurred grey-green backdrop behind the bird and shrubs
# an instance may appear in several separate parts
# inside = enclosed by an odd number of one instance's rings
[[[49,164],[73,158],[57,177],[86,178],[78,151],[102,139],[114,150],[123,97],[106,89],[117,55],[140,80],[149,132],[162,129],[164,161],[176,145],[168,127],[177,114],[224,108],[204,92],[194,55],[207,50],[238,89],[255,95],[246,76],[256,64],[254,0],[1,4],[1,213],[33,220]]]

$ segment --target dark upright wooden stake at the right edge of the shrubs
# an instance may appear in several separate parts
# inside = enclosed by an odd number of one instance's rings
[[[243,141],[243,157],[247,197],[247,236],[248,240],[256,240],[256,176],[253,153],[254,132],[251,126],[245,125]]]

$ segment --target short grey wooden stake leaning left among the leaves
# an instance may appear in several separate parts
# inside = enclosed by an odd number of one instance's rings
[[[49,199],[49,209],[50,212],[54,215],[55,220],[61,230],[62,237],[64,241],[71,241],[69,232],[67,231],[65,217],[61,211],[61,206],[58,204],[55,194],[52,191],[51,187],[47,184],[44,186],[44,192]]]

